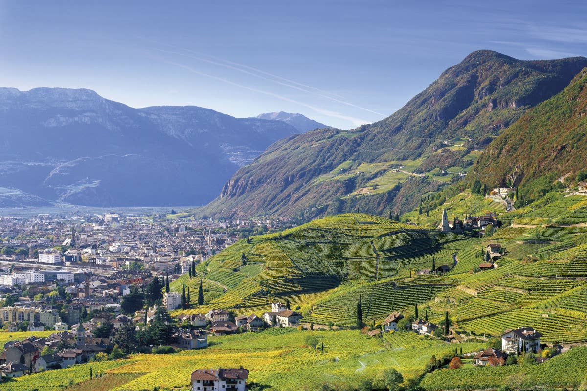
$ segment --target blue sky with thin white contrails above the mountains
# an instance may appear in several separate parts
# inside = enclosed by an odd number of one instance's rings
[[[349,129],[392,114],[474,50],[587,56],[585,15],[582,0],[0,0],[0,86]]]

